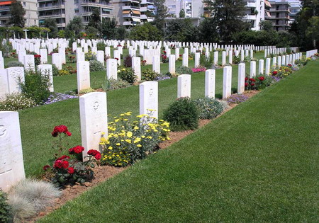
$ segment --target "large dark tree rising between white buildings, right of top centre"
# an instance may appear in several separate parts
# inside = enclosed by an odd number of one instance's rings
[[[245,16],[245,1],[242,0],[204,0],[208,11],[211,12],[213,24],[219,39],[225,43],[232,42],[233,33],[250,28],[249,23],[242,21]]]

